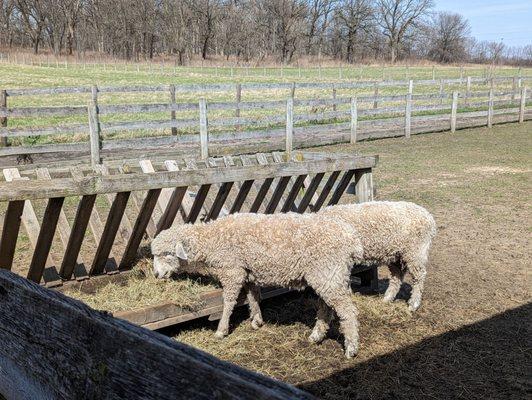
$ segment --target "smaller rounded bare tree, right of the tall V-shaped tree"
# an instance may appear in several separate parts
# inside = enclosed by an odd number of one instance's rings
[[[469,36],[469,23],[460,14],[440,12],[428,27],[429,51],[431,59],[450,63],[466,57],[466,42]]]

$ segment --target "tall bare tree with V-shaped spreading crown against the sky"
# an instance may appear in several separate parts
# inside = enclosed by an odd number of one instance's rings
[[[432,5],[432,0],[377,0],[379,24],[388,39],[392,63],[409,30],[416,27]]]

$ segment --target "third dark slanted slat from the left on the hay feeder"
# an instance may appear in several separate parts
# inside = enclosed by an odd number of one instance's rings
[[[72,225],[72,231],[66,244],[65,256],[63,257],[63,262],[59,269],[59,275],[61,275],[62,279],[70,279],[75,271],[76,265],[79,265],[79,251],[81,249],[81,244],[83,243],[83,238],[85,237],[85,232],[89,224],[95,201],[96,195],[91,194],[83,196],[78,204],[76,217],[74,218],[74,224]],[[76,278],[84,275],[86,276],[88,273],[84,274],[83,271],[76,271]]]

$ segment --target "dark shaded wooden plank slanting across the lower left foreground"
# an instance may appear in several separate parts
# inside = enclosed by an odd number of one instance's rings
[[[0,271],[0,293],[6,398],[313,398],[9,271]]]

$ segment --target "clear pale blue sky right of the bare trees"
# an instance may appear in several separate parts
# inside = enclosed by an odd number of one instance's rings
[[[478,40],[506,46],[532,44],[532,0],[435,0],[437,11],[452,11],[469,20]]]

